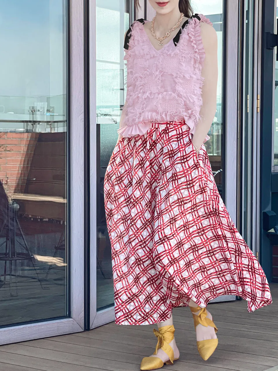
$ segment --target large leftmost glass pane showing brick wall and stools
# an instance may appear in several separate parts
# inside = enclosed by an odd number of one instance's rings
[[[0,326],[68,315],[66,3],[1,1]]]

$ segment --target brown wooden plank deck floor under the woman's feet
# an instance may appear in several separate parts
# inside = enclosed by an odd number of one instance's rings
[[[278,370],[278,284],[271,284],[273,304],[248,313],[246,301],[212,303],[219,345],[203,361],[196,349],[188,308],[174,311],[181,358],[171,371]],[[113,322],[89,332],[2,345],[2,371],[138,371],[151,354],[156,338],[150,326],[119,326]]]

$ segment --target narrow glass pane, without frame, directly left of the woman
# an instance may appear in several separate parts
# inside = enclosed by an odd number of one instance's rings
[[[111,246],[107,233],[103,180],[118,139],[125,102],[124,35],[129,28],[129,1],[97,0],[97,309],[114,305]]]

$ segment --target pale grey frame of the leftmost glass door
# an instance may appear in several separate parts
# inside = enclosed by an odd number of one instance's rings
[[[68,3],[70,318],[1,328],[0,344],[71,334],[84,329],[84,60],[83,32],[77,32],[83,30],[83,0]]]

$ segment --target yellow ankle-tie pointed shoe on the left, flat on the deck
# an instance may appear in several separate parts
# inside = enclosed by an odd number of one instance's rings
[[[169,345],[169,343],[171,343],[174,338],[174,326],[163,326],[160,327],[158,330],[154,328],[153,332],[158,338],[155,352],[153,354],[157,354],[158,349],[161,348],[168,355],[169,359],[168,361],[163,362],[162,359],[160,359],[159,357],[144,357],[140,365],[140,370],[142,371],[158,370],[158,368],[163,367],[164,364],[172,365],[174,361],[178,360],[178,358],[174,359],[173,349]]]

